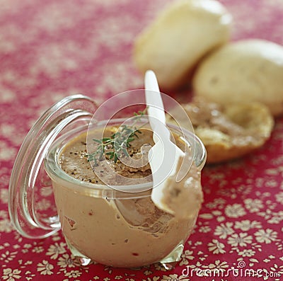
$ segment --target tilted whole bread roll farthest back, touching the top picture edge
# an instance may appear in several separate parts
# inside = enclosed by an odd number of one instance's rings
[[[134,62],[153,70],[162,89],[182,84],[209,50],[229,40],[231,15],[214,0],[169,4],[135,40]]]

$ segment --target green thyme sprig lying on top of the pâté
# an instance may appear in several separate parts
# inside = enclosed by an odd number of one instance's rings
[[[144,115],[146,109],[134,113],[134,122],[131,126],[121,125],[120,130],[112,134],[110,137],[103,137],[102,139],[93,139],[93,142],[98,144],[96,151],[88,154],[88,161],[93,161],[95,166],[98,166],[98,161],[103,159],[103,155],[107,156],[109,160],[117,163],[121,156],[129,156],[127,148],[131,147],[130,142],[139,138],[141,134],[139,130],[142,126],[136,127],[137,121]]]

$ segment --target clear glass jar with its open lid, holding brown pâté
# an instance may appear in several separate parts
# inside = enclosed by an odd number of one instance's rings
[[[151,182],[140,184],[144,191],[124,192],[73,178],[60,166],[62,149],[71,139],[88,131],[96,110],[96,103],[90,98],[76,95],[53,105],[37,120],[18,153],[11,175],[11,221],[20,234],[31,239],[62,229],[71,253],[82,265],[93,260],[133,268],[161,262],[171,268],[180,260],[197,212],[183,220],[166,213],[151,216]],[[95,124],[97,128],[105,122],[112,126],[125,120],[103,121],[105,115],[101,117]],[[178,126],[168,127],[183,136],[201,170],[206,151],[200,139]],[[139,219],[132,219],[137,212]],[[151,222],[144,217],[152,217]]]

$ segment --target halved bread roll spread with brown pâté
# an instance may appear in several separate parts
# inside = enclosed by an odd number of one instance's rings
[[[190,117],[195,134],[207,149],[207,163],[229,161],[261,147],[270,137],[274,120],[262,103],[233,103],[225,106],[202,99],[182,104]],[[178,119],[178,112],[167,115],[185,127],[187,120]],[[190,130],[190,128],[187,128]]]

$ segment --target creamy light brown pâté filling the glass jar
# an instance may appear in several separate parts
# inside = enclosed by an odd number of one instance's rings
[[[105,134],[109,135],[113,130],[117,128],[107,128]],[[177,136],[175,139],[182,149],[184,142]],[[149,130],[141,130],[139,138],[131,142],[129,155],[139,158],[142,144],[154,144]],[[176,246],[185,244],[202,202],[200,171],[194,163],[182,182],[175,185],[171,180],[170,196],[177,195],[172,201],[175,210],[178,210],[178,200],[183,202],[182,206],[186,200],[188,205],[195,201],[193,208],[190,206],[185,209],[185,215],[175,217],[154,205],[150,197],[151,190],[123,193],[110,190],[105,185],[105,188],[96,185],[103,182],[93,172],[86,155],[86,134],[83,133],[72,139],[59,155],[61,168],[81,180],[81,185],[78,184],[74,190],[69,188],[71,183],[53,180],[62,231],[71,248],[104,265],[133,268],[161,261]],[[151,175],[149,164],[141,168],[130,168],[120,161],[110,164],[123,176],[151,179],[148,177]],[[85,182],[88,186],[93,184],[93,193],[83,187]],[[183,194],[183,188],[186,189],[186,197],[178,196]],[[190,188],[194,190],[193,193],[190,193]],[[114,199],[109,196],[111,191],[116,195]]]

